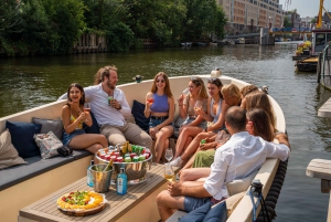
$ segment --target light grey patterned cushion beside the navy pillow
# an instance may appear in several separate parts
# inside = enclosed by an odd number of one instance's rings
[[[33,138],[43,159],[47,159],[58,155],[57,148],[63,147],[62,141],[54,135],[53,131],[47,134],[35,134]]]

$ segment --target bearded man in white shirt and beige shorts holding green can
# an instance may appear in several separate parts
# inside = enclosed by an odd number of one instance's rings
[[[90,103],[90,110],[100,127],[100,134],[105,135],[111,145],[122,145],[128,140],[151,148],[151,137],[139,126],[125,119],[131,114],[131,108],[124,92],[116,87],[117,67],[106,66],[100,78],[100,84],[84,88],[85,98]]]

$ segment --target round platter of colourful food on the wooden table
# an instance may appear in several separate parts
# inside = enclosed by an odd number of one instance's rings
[[[89,215],[105,209],[107,202],[105,194],[94,191],[75,191],[61,195],[57,208],[67,215]]]

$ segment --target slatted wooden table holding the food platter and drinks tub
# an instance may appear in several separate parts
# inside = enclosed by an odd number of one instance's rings
[[[177,169],[175,171],[178,171]],[[116,193],[115,186],[105,193],[108,202],[106,208],[94,215],[71,216],[57,209],[56,200],[68,192],[76,190],[93,190],[86,184],[86,177],[72,184],[23,208],[19,212],[19,222],[23,221],[159,221],[156,197],[167,189],[168,181],[163,179],[164,166],[152,163],[147,172],[147,181],[135,186],[128,186],[125,195]],[[65,176],[62,178],[65,180]]]

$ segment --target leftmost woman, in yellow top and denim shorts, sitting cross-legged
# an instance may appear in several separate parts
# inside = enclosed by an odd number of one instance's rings
[[[67,103],[62,107],[64,127],[63,145],[73,149],[86,149],[93,154],[108,146],[100,134],[85,134],[83,124],[92,126],[89,112],[84,110],[85,95],[82,85],[73,83],[67,89]]]

